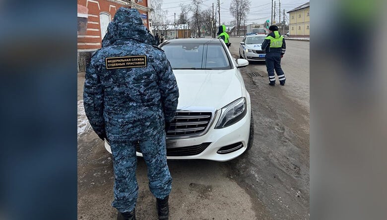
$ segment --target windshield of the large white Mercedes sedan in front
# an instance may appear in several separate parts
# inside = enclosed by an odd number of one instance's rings
[[[222,44],[165,44],[162,46],[173,69],[230,69]]]

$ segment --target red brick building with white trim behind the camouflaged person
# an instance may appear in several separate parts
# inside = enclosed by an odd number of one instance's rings
[[[108,24],[120,7],[136,8],[149,29],[148,0],[77,0],[78,4],[78,72],[84,72],[93,51],[101,48]]]

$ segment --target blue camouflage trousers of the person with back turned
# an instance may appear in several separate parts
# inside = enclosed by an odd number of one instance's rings
[[[143,158],[148,169],[149,189],[159,199],[169,195],[172,177],[167,165],[165,132],[139,140]],[[112,206],[119,212],[135,208],[138,185],[135,176],[137,141],[111,141],[114,168],[114,201]]]

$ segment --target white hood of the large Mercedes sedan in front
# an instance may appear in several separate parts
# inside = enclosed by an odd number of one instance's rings
[[[242,97],[242,80],[231,70],[173,70],[179,87],[179,110],[221,109]]]

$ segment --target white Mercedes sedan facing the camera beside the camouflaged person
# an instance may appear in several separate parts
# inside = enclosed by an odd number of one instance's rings
[[[173,39],[160,46],[180,92],[167,132],[167,159],[229,161],[249,150],[254,120],[238,69],[249,61],[235,60],[219,39]],[[108,142],[105,147],[111,152]]]

